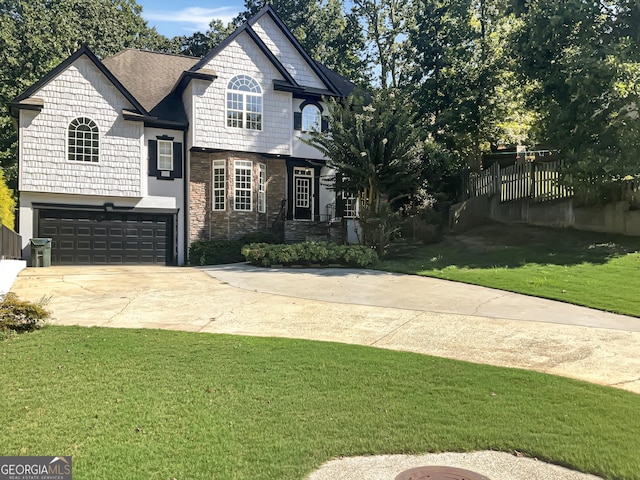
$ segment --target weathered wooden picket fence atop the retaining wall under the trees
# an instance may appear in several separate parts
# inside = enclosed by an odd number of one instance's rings
[[[463,181],[463,193],[467,198],[499,194],[501,202],[568,198],[573,192],[560,183],[560,167],[560,162],[527,162],[502,168],[494,163],[480,173],[469,173]]]

